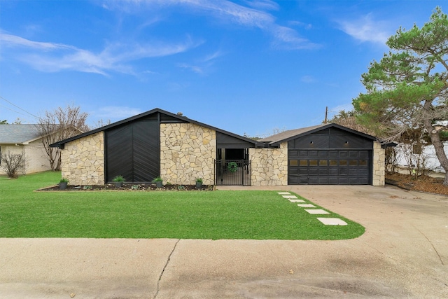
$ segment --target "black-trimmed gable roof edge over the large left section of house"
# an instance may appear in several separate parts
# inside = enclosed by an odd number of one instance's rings
[[[253,140],[253,139],[250,139],[250,138],[247,138],[247,137],[243,137],[243,136],[240,136],[240,135],[237,135],[237,134],[234,134],[232,132],[225,131],[225,130],[221,130],[218,127],[213,127],[211,125],[200,123],[197,120],[192,120],[190,118],[187,118],[186,116],[179,116],[177,114],[174,114],[174,113],[171,113],[171,112],[159,109],[159,108],[155,108],[153,110],[146,111],[144,113],[140,113],[137,116],[132,116],[130,118],[126,118],[124,120],[120,120],[120,121],[118,121],[116,123],[111,123],[110,125],[105,125],[104,127],[99,127],[99,128],[97,128],[95,130],[91,130],[89,132],[85,132],[83,134],[76,135],[75,137],[71,137],[71,138],[68,138],[68,139],[57,141],[54,144],[50,144],[50,146],[64,148],[64,144],[66,144],[66,143],[68,143],[70,141],[73,141],[73,140],[76,140],[76,139],[80,139],[80,138],[83,138],[83,137],[87,137],[87,136],[95,134],[97,132],[108,130],[108,129],[112,128],[112,127],[117,127],[118,125],[123,125],[125,123],[130,123],[130,122],[132,122],[134,120],[138,120],[139,118],[144,118],[144,117],[149,116],[149,115],[151,115],[153,113],[163,113],[163,114],[166,114],[167,116],[170,116],[172,118],[176,118],[176,119],[180,120],[181,123],[193,123],[195,125],[200,125],[201,127],[207,127],[207,128],[209,128],[211,130],[215,130],[216,132],[221,132],[223,134],[226,134],[226,135],[235,137],[237,139],[241,139],[243,141],[249,142],[251,144],[254,144],[255,146],[256,145],[260,146],[260,143],[258,141]],[[261,146],[262,146],[262,144],[261,144]]]

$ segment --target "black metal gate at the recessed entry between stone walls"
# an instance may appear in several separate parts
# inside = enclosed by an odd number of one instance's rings
[[[251,186],[250,160],[215,160],[215,185]]]

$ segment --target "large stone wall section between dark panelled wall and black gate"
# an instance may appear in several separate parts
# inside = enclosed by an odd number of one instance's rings
[[[160,176],[165,183],[214,184],[216,132],[192,123],[160,124]]]

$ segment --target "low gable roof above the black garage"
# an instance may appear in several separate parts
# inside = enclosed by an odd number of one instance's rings
[[[268,144],[269,146],[277,146],[277,145],[281,144],[281,142],[289,141],[290,139],[295,139],[297,137],[302,137],[302,136],[305,136],[305,135],[308,135],[308,134],[311,134],[314,132],[325,130],[325,129],[328,129],[329,127],[336,127],[340,130],[344,130],[346,132],[350,132],[352,134],[356,134],[360,137],[371,139],[373,141],[377,140],[376,137],[373,137],[371,135],[364,134],[362,132],[358,132],[355,130],[351,130],[348,127],[344,127],[342,125],[337,125],[335,123],[327,123],[327,124],[322,124],[322,125],[314,125],[311,127],[302,127],[300,129],[295,129],[295,130],[288,130],[285,132],[281,132],[279,134],[274,134],[270,137],[260,139],[258,141]]]

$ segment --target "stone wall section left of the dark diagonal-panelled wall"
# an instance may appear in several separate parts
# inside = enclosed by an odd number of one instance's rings
[[[104,185],[104,133],[76,139],[61,151],[62,177],[71,185]]]

